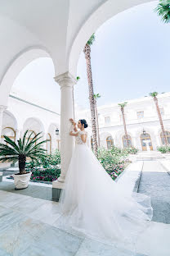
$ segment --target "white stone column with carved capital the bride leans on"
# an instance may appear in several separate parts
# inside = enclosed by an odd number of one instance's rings
[[[71,123],[69,118],[74,118],[73,88],[76,80],[69,72],[55,77],[60,85],[60,165],[61,173],[57,181],[52,183],[52,188],[61,189],[69,167],[70,158],[74,150],[74,138],[69,135]],[[58,196],[58,195],[57,195]],[[57,197],[56,196],[56,197]],[[55,196],[53,196],[55,198]]]

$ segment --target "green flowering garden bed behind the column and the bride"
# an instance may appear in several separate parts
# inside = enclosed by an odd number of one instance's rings
[[[130,163],[129,154],[135,154],[137,149],[119,149],[112,147],[111,149],[99,149],[98,160],[105,168],[110,177],[115,180]],[[26,171],[32,171],[30,181],[51,184],[60,177],[60,152],[56,151],[46,158],[41,158],[39,162],[27,162]],[[9,177],[13,179],[13,177]]]

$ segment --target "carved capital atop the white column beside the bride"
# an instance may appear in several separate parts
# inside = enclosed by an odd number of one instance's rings
[[[63,86],[70,86],[70,87],[72,87],[73,85],[75,85],[77,83],[77,80],[69,72],[65,72],[64,74],[55,76],[54,80],[61,87],[63,87]]]

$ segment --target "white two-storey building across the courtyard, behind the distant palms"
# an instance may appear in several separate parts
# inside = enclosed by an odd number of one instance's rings
[[[168,143],[170,144],[170,93],[159,94],[159,108],[163,119]],[[113,144],[126,147],[123,118],[118,103],[98,107],[100,146],[106,149]],[[129,144],[141,151],[156,150],[164,144],[158,112],[153,98],[129,100],[124,107]],[[90,112],[79,112],[78,117],[87,118],[90,124]],[[91,125],[90,125],[91,126]],[[149,147],[145,140],[148,140]]]

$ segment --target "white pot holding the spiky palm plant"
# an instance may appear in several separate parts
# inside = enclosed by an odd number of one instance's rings
[[[17,190],[26,189],[29,185],[30,176],[32,172],[28,172],[25,174],[14,174],[14,184],[16,185]]]

